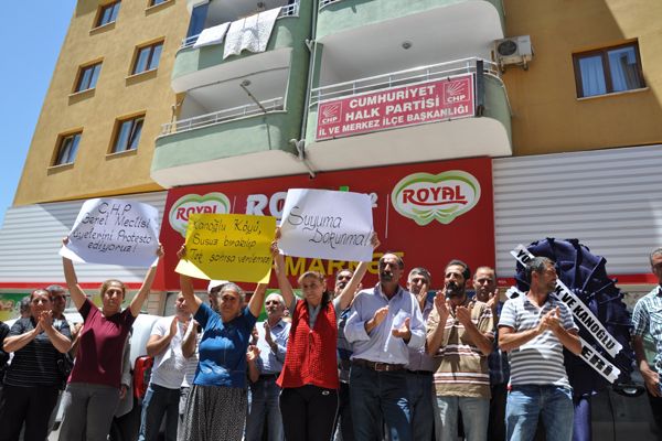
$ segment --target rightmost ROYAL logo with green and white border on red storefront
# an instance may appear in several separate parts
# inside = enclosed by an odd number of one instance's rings
[[[395,185],[391,200],[399,214],[420,226],[435,219],[450,224],[476,206],[480,200],[480,184],[460,170],[414,173]]]

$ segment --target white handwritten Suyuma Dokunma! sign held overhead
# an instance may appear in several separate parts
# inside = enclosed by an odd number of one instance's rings
[[[371,198],[362,193],[290,189],[280,233],[278,246],[290,256],[371,261]]]

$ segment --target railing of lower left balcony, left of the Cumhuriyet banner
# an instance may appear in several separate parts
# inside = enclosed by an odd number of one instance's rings
[[[212,114],[200,115],[193,118],[180,119],[178,121],[168,122],[161,126],[161,135],[179,133],[182,131],[200,129],[202,127],[213,126],[218,122],[232,121],[243,117],[254,115],[268,114],[271,111],[284,110],[282,97],[267,99],[258,104],[247,104],[244,106],[233,107],[214,111]]]

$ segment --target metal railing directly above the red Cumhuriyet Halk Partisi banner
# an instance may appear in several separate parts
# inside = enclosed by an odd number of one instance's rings
[[[474,73],[477,62],[480,60],[481,58],[477,57],[456,60],[452,62],[414,67],[410,69],[392,72],[388,74],[318,87],[310,92],[310,106],[314,106],[319,101],[327,99],[335,99],[372,90],[403,86],[406,84],[430,82],[444,79],[453,75]],[[501,73],[496,63],[487,60],[482,60],[482,62],[483,72],[487,75],[501,78]]]

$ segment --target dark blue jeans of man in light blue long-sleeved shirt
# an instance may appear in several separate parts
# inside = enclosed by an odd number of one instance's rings
[[[391,441],[413,440],[405,370],[375,372],[352,365],[350,385],[356,441],[381,440],[383,422]]]

